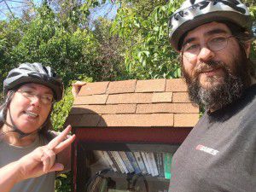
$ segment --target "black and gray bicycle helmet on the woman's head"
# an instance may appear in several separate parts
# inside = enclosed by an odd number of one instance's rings
[[[3,90],[6,94],[9,90],[15,90],[22,84],[44,84],[54,92],[55,101],[58,102],[63,96],[62,79],[51,67],[44,67],[41,63],[22,63],[12,69],[3,81]]]

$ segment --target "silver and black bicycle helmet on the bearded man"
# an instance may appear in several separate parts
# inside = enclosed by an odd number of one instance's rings
[[[180,50],[187,32],[212,21],[233,23],[253,34],[252,17],[240,0],[186,0],[169,20],[170,43]]]

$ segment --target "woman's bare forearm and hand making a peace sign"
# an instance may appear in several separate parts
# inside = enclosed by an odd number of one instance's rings
[[[8,192],[15,183],[27,178],[39,177],[47,172],[63,170],[64,166],[62,164],[55,163],[55,154],[60,153],[73,143],[74,135],[64,140],[69,131],[71,131],[70,125],[47,145],[36,148],[31,153],[20,158],[20,160],[3,166],[0,169],[1,192]]]

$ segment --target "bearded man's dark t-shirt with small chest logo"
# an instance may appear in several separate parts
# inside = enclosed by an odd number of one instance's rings
[[[170,192],[256,192],[256,84],[205,113],[172,159]]]

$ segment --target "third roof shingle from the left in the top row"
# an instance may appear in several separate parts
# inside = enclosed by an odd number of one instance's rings
[[[166,79],[138,80],[135,92],[160,92],[166,89]]]

